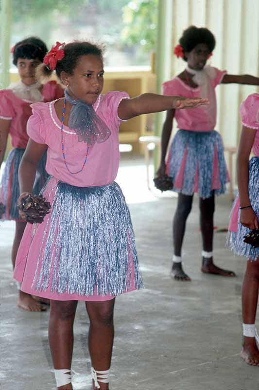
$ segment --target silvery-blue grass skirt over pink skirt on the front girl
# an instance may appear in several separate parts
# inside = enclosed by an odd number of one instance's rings
[[[14,276],[21,290],[57,300],[106,300],[143,287],[130,213],[115,182],[76,187],[51,177],[52,209],[27,224]]]

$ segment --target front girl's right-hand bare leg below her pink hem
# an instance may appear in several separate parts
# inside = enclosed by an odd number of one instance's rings
[[[90,319],[88,347],[92,367],[96,371],[109,370],[111,365],[114,339],[115,298],[104,302],[86,302],[86,310]],[[99,383],[99,382],[98,382]],[[99,383],[101,390],[108,390],[108,383]],[[93,384],[93,389],[95,389]]]

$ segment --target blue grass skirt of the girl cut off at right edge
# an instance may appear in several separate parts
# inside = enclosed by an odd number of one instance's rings
[[[249,198],[254,212],[259,217],[259,157],[252,157],[249,161]],[[235,254],[247,257],[250,260],[257,260],[259,257],[259,248],[252,248],[251,245],[243,242],[245,234],[250,230],[240,223],[240,200],[237,195],[230,215],[228,234],[226,237],[226,246]]]

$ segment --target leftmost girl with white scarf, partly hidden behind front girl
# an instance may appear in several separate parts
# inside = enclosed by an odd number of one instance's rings
[[[17,42],[12,49],[13,63],[17,66],[20,81],[0,90],[0,166],[6,150],[8,135],[13,149],[9,153],[0,182],[0,202],[5,207],[2,219],[16,221],[15,238],[12,248],[12,263],[15,267],[17,250],[25,229],[25,223],[18,215],[17,199],[20,195],[18,167],[28,143],[26,124],[32,115],[31,103],[51,101],[64,96],[63,88],[55,81],[42,85],[35,80],[35,69],[47,53],[45,43],[38,38],[30,37]],[[45,171],[46,154],[37,167],[34,193],[38,194],[43,187],[47,173]],[[45,309],[31,295],[19,290],[18,306],[29,311]]]

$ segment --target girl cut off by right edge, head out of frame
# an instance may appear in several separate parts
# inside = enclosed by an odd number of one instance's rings
[[[241,356],[259,366],[259,336],[255,328],[259,291],[259,248],[243,242],[243,237],[259,228],[259,94],[252,94],[241,105],[242,133],[237,173],[239,194],[230,217],[227,243],[234,253],[248,259],[242,286],[243,346]],[[249,161],[251,151],[254,153]]]

